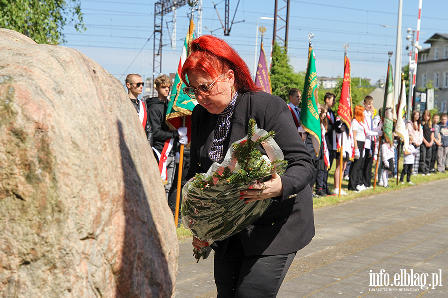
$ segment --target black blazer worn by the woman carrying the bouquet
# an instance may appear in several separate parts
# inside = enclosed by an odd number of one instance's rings
[[[277,255],[295,252],[313,238],[313,200],[309,182],[314,162],[300,137],[285,101],[259,91],[240,94],[231,119],[230,137],[224,148],[247,135],[248,120],[259,128],[275,131],[275,141],[288,161],[281,176],[283,196],[273,198],[271,206],[253,224],[239,232],[246,255]],[[192,112],[191,163],[187,180],[205,173],[212,165],[208,152],[213,141],[217,115],[197,105]],[[263,151],[262,151],[263,152]],[[265,153],[265,152],[263,152]],[[224,254],[228,239],[212,245],[216,254]]]

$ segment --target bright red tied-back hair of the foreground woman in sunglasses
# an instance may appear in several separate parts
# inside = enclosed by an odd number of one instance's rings
[[[238,92],[260,90],[253,82],[247,64],[224,40],[212,35],[203,35],[190,43],[190,51],[181,73],[181,78],[187,86],[187,72],[200,71],[210,77],[217,77],[231,69],[235,73],[234,86]]]

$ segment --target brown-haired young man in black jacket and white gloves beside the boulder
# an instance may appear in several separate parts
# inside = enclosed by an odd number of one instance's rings
[[[163,74],[154,80],[154,84],[156,85],[157,97],[147,98],[146,104],[148,105],[148,117],[154,133],[154,146],[152,149],[154,149],[154,155],[159,163],[159,170],[168,199],[169,191],[174,181],[175,158],[178,152],[177,143],[180,142],[187,145],[187,128],[180,127],[179,130],[170,130],[166,124],[166,110],[171,79]]]

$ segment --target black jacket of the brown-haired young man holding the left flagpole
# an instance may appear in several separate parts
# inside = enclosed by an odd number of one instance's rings
[[[143,97],[146,100],[148,107],[148,119],[151,122],[152,132],[154,134],[153,147],[157,151],[162,152],[165,141],[168,139],[175,139],[174,145],[179,140],[177,130],[170,131],[166,124],[166,109],[167,103],[161,101],[158,97]],[[177,146],[173,147],[173,152],[177,152]]]

